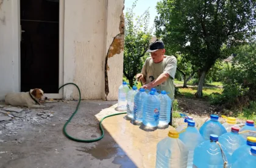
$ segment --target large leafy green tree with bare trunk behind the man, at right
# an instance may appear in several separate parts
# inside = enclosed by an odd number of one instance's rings
[[[157,3],[156,35],[199,68],[196,97],[207,72],[230,48],[255,35],[255,0],[162,0]]]

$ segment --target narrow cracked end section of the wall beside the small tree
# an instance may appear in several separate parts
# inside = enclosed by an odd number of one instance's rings
[[[107,35],[116,36],[108,47],[105,57],[105,100],[116,100],[118,98],[118,87],[123,80],[123,51],[124,51],[124,1],[108,1],[108,6],[118,5],[119,10],[108,10],[108,16],[115,16],[107,19]],[[116,9],[116,8],[115,8]],[[118,13],[119,12],[119,13]],[[116,21],[119,21],[117,24]],[[115,28],[113,26],[116,26]],[[109,43],[109,41],[108,41]],[[107,43],[107,44],[108,44]]]

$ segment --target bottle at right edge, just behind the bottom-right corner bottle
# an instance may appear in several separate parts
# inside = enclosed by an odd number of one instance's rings
[[[233,152],[233,154],[232,154],[232,163],[234,163],[239,158],[246,155],[246,153],[249,152],[249,150],[251,149],[252,146],[256,146],[256,137],[248,136],[246,144],[242,145],[241,147],[236,149],[235,152]]]

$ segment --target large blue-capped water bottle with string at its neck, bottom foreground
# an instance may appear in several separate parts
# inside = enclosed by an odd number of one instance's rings
[[[230,155],[225,152],[222,145],[218,144],[218,135],[210,135],[210,140],[202,142],[194,149],[193,167],[197,168],[223,168],[230,167]]]

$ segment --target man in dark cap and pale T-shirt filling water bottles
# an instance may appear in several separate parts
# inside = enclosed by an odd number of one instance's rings
[[[141,88],[165,90],[173,101],[174,76],[177,68],[176,57],[165,55],[165,45],[160,40],[154,41],[147,52],[150,52],[151,57],[146,59],[141,74],[136,75],[136,78],[143,83]],[[172,109],[169,125],[172,125]]]

